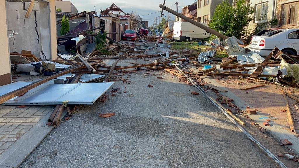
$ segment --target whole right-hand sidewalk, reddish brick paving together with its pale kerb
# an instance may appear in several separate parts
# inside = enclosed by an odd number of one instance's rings
[[[229,90],[228,92],[220,93],[234,99],[233,103],[241,110],[246,111],[247,106],[257,109],[257,114],[248,116],[268,130],[277,139],[288,139],[291,141],[293,145],[288,147],[299,153],[299,139],[296,137],[297,134],[290,131],[287,114],[285,112],[286,104],[281,91],[281,88],[288,88],[274,84],[266,84],[266,86],[260,88],[240,90],[242,87],[262,84],[262,82],[252,81],[246,78],[228,79],[227,77],[204,77],[203,79],[205,82],[218,87],[227,88]],[[237,82],[239,84],[237,84]],[[244,83],[244,85],[240,85],[240,83]],[[297,119],[299,120],[299,108],[294,105],[297,103],[295,100],[289,97],[287,97],[287,100],[294,120],[295,131],[298,133],[299,122]],[[265,122],[266,119],[270,120],[269,123],[271,126],[263,126],[263,122]]]

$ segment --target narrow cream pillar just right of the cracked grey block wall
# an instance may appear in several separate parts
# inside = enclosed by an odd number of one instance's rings
[[[57,36],[56,36],[56,9],[55,0],[49,0],[50,3],[50,28],[51,28],[51,59],[57,59]]]

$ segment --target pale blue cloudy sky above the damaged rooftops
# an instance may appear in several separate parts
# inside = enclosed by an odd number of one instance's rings
[[[97,12],[99,13],[100,10],[105,10],[107,7],[109,7],[112,3],[115,3],[120,9],[122,9],[126,13],[132,13],[133,12],[138,14],[143,18],[144,21],[149,21],[149,25],[152,25],[154,22],[155,16],[160,16],[161,8],[159,8],[159,4],[162,4],[164,0],[113,0],[112,1],[103,1],[103,0],[69,0],[71,1],[77,10],[79,12],[82,11],[92,11],[94,10],[94,6],[96,7]],[[195,0],[184,0],[184,1],[178,1],[178,0],[166,0],[165,5],[167,7],[170,7],[173,10],[176,10],[176,5],[174,3],[179,2],[179,12],[181,12],[182,7],[186,5],[190,5],[193,2],[196,2]],[[154,13],[157,12],[157,13]],[[153,13],[153,14],[150,14]],[[148,15],[149,14],[149,15]],[[165,14],[164,17],[168,18],[168,12],[164,11],[163,14]],[[145,15],[145,16],[143,16]],[[170,14],[170,18],[174,19],[174,15]]]

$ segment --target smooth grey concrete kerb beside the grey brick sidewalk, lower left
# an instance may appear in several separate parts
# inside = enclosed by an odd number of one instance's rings
[[[13,143],[0,155],[0,168],[19,167],[28,155],[42,142],[42,140],[54,129],[48,126],[48,118],[53,110],[45,115],[38,123],[31,127],[21,138]]]

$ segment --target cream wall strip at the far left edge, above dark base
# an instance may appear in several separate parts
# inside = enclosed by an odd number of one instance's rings
[[[6,23],[6,3],[0,1],[0,16],[2,19],[0,22],[0,76],[10,73],[10,58],[8,49],[8,30]]]

